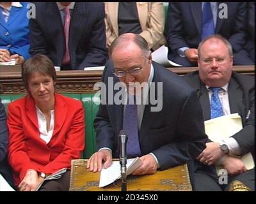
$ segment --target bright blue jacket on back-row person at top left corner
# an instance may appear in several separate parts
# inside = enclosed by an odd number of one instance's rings
[[[0,48],[7,49],[10,53],[19,54],[25,60],[29,59],[29,18],[27,17],[28,3],[20,3],[22,7],[12,6],[10,17],[5,22],[3,13],[0,12]]]

